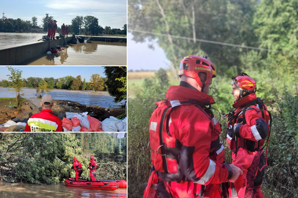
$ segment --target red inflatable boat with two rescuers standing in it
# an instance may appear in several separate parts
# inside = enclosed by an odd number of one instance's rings
[[[118,188],[118,184],[115,180],[96,180],[96,181],[87,181],[87,180],[78,180],[75,181],[75,178],[68,178],[64,180],[66,186],[73,188],[86,188],[94,190],[105,190],[105,191],[114,191]]]

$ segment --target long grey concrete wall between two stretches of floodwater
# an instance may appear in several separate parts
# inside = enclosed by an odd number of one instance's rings
[[[66,42],[72,37],[66,37]],[[51,47],[63,45],[63,39],[37,41],[32,44],[25,44],[18,47],[6,48],[0,50],[0,65],[18,65],[35,56],[45,54]]]

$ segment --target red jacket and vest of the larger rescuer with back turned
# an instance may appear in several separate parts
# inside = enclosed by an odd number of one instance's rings
[[[149,120],[152,164],[164,181],[191,182],[197,189],[209,184],[212,193],[232,176],[224,163],[221,126],[205,107],[215,101],[182,86],[170,86],[166,97]]]

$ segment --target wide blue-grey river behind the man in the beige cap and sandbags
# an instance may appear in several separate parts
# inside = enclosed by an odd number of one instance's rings
[[[23,98],[36,98],[35,89],[24,88],[21,92]],[[44,93],[46,94],[46,93]],[[125,105],[122,100],[119,103],[114,103],[114,97],[110,96],[107,91],[78,91],[65,89],[52,89],[48,94],[52,95],[54,100],[72,100],[77,103],[89,106],[108,107],[111,109],[120,109],[120,106]],[[42,94],[41,94],[42,95]],[[15,91],[8,91],[7,88],[0,87],[0,98],[15,98]]]

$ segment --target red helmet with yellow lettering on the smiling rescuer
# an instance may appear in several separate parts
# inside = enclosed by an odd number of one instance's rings
[[[256,81],[254,81],[252,77],[248,76],[246,73],[243,73],[243,72],[238,74],[237,77],[232,76],[231,84],[235,84],[235,86],[238,89],[240,89],[239,98],[249,95],[251,93],[255,93],[257,91]],[[247,93],[243,95],[243,92],[247,92]]]

